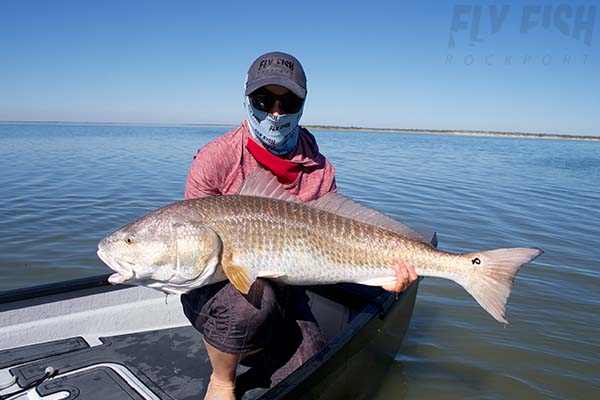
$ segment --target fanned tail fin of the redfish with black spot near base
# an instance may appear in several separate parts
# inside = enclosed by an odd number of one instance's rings
[[[466,254],[475,273],[463,286],[492,317],[508,324],[504,312],[515,276],[542,253],[537,248],[511,248]]]

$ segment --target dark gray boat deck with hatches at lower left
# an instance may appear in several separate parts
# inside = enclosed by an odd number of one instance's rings
[[[41,396],[68,393],[81,399],[197,399],[211,368],[202,336],[191,326],[103,337],[90,346],[83,337],[0,352],[21,388],[52,367],[60,376],[37,385]],[[243,371],[242,371],[243,372]],[[262,391],[248,393],[254,399]]]

